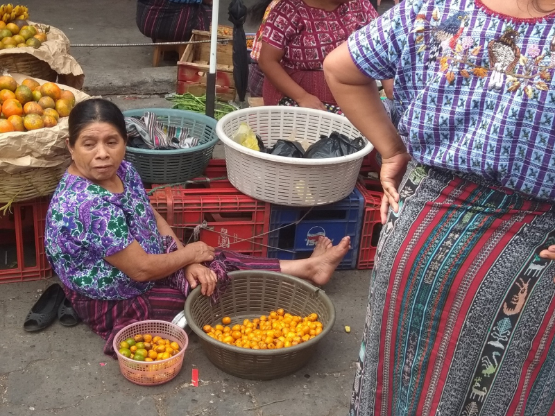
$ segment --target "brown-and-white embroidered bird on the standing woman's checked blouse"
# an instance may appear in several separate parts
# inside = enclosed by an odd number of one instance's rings
[[[490,58],[490,83],[488,89],[501,91],[505,82],[505,74],[511,73],[520,60],[520,48],[516,46],[515,40],[520,33],[513,28],[507,28],[502,37],[492,40],[488,44]]]

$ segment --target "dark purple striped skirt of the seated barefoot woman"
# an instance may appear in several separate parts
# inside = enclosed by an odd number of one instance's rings
[[[171,237],[167,237],[167,239]],[[166,241],[164,241],[164,244]],[[175,244],[175,243],[174,243]],[[169,246],[167,251],[175,248]],[[216,252],[215,260],[208,266],[222,278],[221,272],[233,270],[268,270],[279,272],[278,259],[250,257],[236,252]],[[219,270],[225,268],[225,270]],[[221,271],[221,272],[220,272]],[[98,300],[81,295],[66,286],[65,295],[71,306],[92,331],[106,340],[104,354],[117,358],[112,343],[120,329],[142,320],[165,320],[171,322],[183,311],[185,297],[189,294],[189,282],[182,270],[155,281],[153,288],[142,295],[126,300]]]

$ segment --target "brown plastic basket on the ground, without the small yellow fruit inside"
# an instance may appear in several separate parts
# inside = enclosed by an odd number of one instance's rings
[[[230,277],[230,286],[215,306],[210,304],[209,297],[200,294],[200,286],[185,302],[187,323],[198,335],[210,361],[233,376],[254,380],[278,379],[303,367],[335,322],[330,298],[307,281],[278,272],[242,270],[230,272]],[[294,347],[244,349],[214,340],[202,329],[206,324],[220,323],[224,316],[230,316],[233,325],[278,308],[292,315],[318,313],[318,320],[323,324],[322,333]]]

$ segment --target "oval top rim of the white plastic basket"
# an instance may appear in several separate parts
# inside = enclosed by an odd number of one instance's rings
[[[347,162],[352,162],[353,160],[362,159],[368,153],[370,153],[374,146],[370,143],[366,137],[364,140],[366,141],[366,146],[359,150],[356,153],[352,153],[351,155],[347,156],[340,156],[340,157],[326,157],[322,159],[300,159],[296,157],[287,157],[287,156],[278,156],[278,155],[270,155],[268,153],[262,153],[257,150],[253,150],[242,146],[241,144],[237,143],[228,135],[223,132],[222,125],[228,123],[231,119],[237,118],[237,116],[241,116],[242,114],[258,114],[258,113],[290,113],[290,114],[298,114],[298,115],[311,115],[311,116],[320,116],[323,119],[332,119],[335,121],[341,121],[345,124],[351,124],[350,121],[345,116],[339,116],[338,114],[332,114],[330,112],[325,112],[323,110],[312,110],[309,108],[303,107],[286,107],[284,105],[265,105],[264,107],[249,107],[244,108],[242,110],[236,110],[234,112],[230,112],[229,114],[225,114],[218,123],[216,124],[216,135],[219,139],[223,142],[223,146],[228,146],[237,150],[240,153],[244,153],[244,155],[249,157],[256,157],[257,159],[262,159],[265,162],[273,162],[278,164],[284,165],[303,165],[303,166],[314,166],[314,165],[335,165],[335,164],[344,164]],[[353,126],[354,127],[354,126]],[[362,134],[361,134],[362,135]],[[319,140],[319,139],[318,139]],[[314,338],[313,338],[314,339]]]

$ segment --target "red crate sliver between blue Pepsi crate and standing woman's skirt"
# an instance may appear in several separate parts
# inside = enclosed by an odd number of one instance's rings
[[[382,231],[382,221],[379,218],[379,206],[382,203],[383,193],[374,191],[373,187],[375,187],[375,181],[364,180],[364,178],[359,177],[357,189],[362,193],[366,201],[366,207],[364,208],[364,219],[362,220],[357,269],[373,268],[379,233]]]

